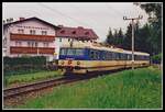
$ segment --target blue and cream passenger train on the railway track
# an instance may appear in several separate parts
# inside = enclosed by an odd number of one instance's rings
[[[70,43],[59,49],[58,68],[65,75],[87,75],[94,71],[108,71],[121,68],[150,66],[150,54],[125,51],[98,43]]]

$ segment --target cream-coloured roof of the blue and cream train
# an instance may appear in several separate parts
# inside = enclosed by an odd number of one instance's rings
[[[62,47],[70,47],[70,43],[63,45]],[[100,45],[98,43],[82,43],[82,42],[74,42],[73,46],[75,48],[94,48],[94,49],[100,49],[100,51],[109,51],[109,52],[116,52],[116,53],[123,53],[123,54],[132,54],[132,51],[125,51],[122,48],[117,48],[117,47],[107,47],[103,45]],[[142,52],[134,52],[134,55],[145,55],[145,56],[150,56],[150,54],[147,53],[142,53]]]

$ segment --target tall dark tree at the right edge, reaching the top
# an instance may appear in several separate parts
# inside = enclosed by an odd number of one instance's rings
[[[152,45],[151,55],[158,54],[162,52],[162,3],[144,3],[140,4],[140,8],[150,15],[150,37],[147,40]]]

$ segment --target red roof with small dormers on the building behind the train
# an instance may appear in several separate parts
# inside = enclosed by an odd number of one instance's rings
[[[74,37],[78,40],[96,40],[97,34],[91,29],[78,27],[66,27],[58,25],[61,29],[56,30],[56,37]]]

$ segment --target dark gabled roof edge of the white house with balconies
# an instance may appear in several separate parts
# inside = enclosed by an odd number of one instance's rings
[[[48,23],[48,22],[46,22],[46,21],[44,21],[44,20],[41,20],[41,19],[38,19],[38,18],[35,18],[35,16],[33,16],[33,18],[29,18],[29,19],[23,19],[23,20],[19,20],[19,21],[14,21],[14,22],[11,22],[11,23],[6,23],[6,24],[3,24],[3,26],[8,26],[8,25],[10,25],[10,24],[16,24],[16,23],[20,23],[20,22],[24,22],[24,21],[30,21],[30,20],[37,20],[37,21],[41,21],[41,22],[43,22],[44,24],[47,24],[47,25],[50,25],[50,26],[53,26],[54,29],[61,29],[61,27],[58,27],[58,26],[56,26],[56,25],[54,25],[54,24],[51,24],[51,23]]]

